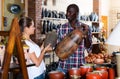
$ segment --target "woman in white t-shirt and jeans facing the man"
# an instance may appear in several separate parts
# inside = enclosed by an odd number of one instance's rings
[[[23,34],[24,42],[29,46],[28,56],[30,63],[35,64],[35,66],[27,68],[29,79],[44,79],[46,68],[43,57],[45,52],[51,49],[50,44],[45,48],[43,45],[39,47],[31,40],[30,35],[34,34],[35,31],[34,22],[31,18],[22,17],[19,20],[19,25]]]

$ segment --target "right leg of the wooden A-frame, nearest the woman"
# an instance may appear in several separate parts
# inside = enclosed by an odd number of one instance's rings
[[[27,67],[26,67],[26,61],[25,61],[25,56],[24,56],[24,51],[23,51],[23,45],[21,42],[22,39],[22,35],[20,32],[20,27],[19,25],[16,26],[16,45],[17,45],[17,49],[18,49],[18,57],[19,57],[19,63],[20,63],[20,67],[22,69],[22,74],[23,74],[23,79],[29,79],[28,75],[27,75]]]

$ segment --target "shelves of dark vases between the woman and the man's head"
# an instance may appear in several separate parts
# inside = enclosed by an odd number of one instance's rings
[[[63,11],[51,10],[46,6],[42,6],[41,9],[41,27],[42,34],[46,34],[49,31],[58,29],[62,24],[66,23],[66,14]]]

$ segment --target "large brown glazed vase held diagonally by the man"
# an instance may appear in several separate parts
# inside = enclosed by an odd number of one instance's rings
[[[83,39],[83,33],[80,30],[74,30],[69,33],[64,39],[57,45],[55,52],[56,55],[64,60],[68,58],[74,51],[77,50],[79,44]],[[64,47],[63,47],[64,46]]]

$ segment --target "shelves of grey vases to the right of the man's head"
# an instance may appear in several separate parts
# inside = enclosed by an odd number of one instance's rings
[[[103,43],[103,37],[102,37],[102,26],[100,22],[100,17],[95,12],[91,12],[91,14],[87,15],[81,15],[80,16],[80,22],[85,23],[89,25],[92,31],[92,52],[93,53],[100,53],[100,44]]]

